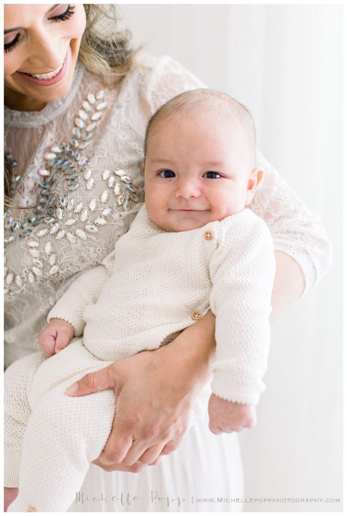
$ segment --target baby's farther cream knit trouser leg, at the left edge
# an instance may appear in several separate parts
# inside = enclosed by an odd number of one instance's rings
[[[11,364],[4,376],[4,485],[18,487],[19,465],[24,431],[29,420],[28,389],[45,357],[42,353],[30,354]]]

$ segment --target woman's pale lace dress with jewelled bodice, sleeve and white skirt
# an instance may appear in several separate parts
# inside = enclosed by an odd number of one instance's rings
[[[203,86],[171,58],[144,55],[114,89],[78,64],[64,98],[38,112],[5,107],[14,202],[28,206],[5,213],[6,365],[38,350],[38,334],[57,299],[128,230],[143,202],[148,118],[172,96]],[[258,157],[265,178],[251,208],[269,225],[275,249],[301,266],[309,289],[329,267],[324,229]],[[235,434],[213,436],[204,421],[143,473],[106,473],[91,465],[70,510],[233,511],[240,504],[230,498],[242,492]]]

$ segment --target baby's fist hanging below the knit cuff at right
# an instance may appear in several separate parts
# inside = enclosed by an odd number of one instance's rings
[[[257,423],[254,405],[242,405],[211,394],[209,399],[210,430],[218,434],[232,431],[241,432]]]

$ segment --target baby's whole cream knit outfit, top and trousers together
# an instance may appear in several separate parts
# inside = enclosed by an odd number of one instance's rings
[[[105,445],[114,392],[71,398],[67,386],[169,342],[210,306],[217,341],[213,391],[256,404],[264,388],[274,270],[270,232],[248,209],[167,233],[143,206],[114,251],[72,283],[49,314],[71,322],[76,336],[84,332],[83,342],[75,338],[48,360],[41,353],[24,357],[6,371],[5,483],[17,485],[19,471],[20,489],[9,512],[66,511]],[[191,425],[203,417],[209,394],[206,386]]]

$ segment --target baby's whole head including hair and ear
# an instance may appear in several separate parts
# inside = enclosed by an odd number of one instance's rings
[[[186,91],[149,120],[145,203],[166,231],[201,228],[240,212],[262,178],[248,110],[218,91]]]

